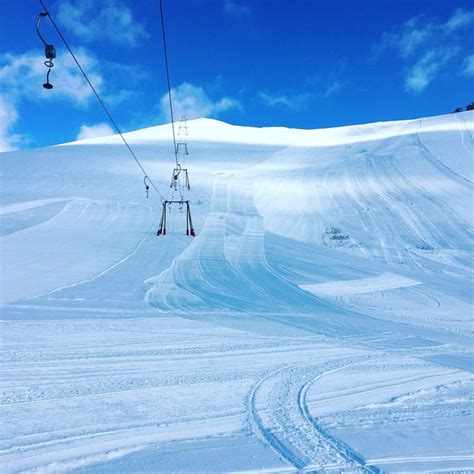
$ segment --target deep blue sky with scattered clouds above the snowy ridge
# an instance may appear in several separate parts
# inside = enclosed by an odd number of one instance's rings
[[[168,120],[158,0],[45,0],[120,127]],[[0,0],[0,150],[109,124],[36,0]],[[165,0],[177,115],[320,128],[450,112],[474,100],[471,0]]]

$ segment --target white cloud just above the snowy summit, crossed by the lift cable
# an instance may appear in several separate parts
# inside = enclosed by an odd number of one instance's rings
[[[188,82],[183,82],[171,90],[173,98],[173,112],[175,119],[185,115],[188,119],[200,117],[217,117],[221,112],[229,109],[240,109],[240,103],[230,97],[213,101],[206,91]],[[164,94],[159,103],[160,118],[170,121],[168,94]]]

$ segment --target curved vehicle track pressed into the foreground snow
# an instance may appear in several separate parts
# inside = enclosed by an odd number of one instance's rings
[[[306,403],[308,388],[322,376],[368,358],[362,355],[321,364],[291,364],[268,373],[248,396],[252,431],[299,472],[380,472],[322,428]]]

